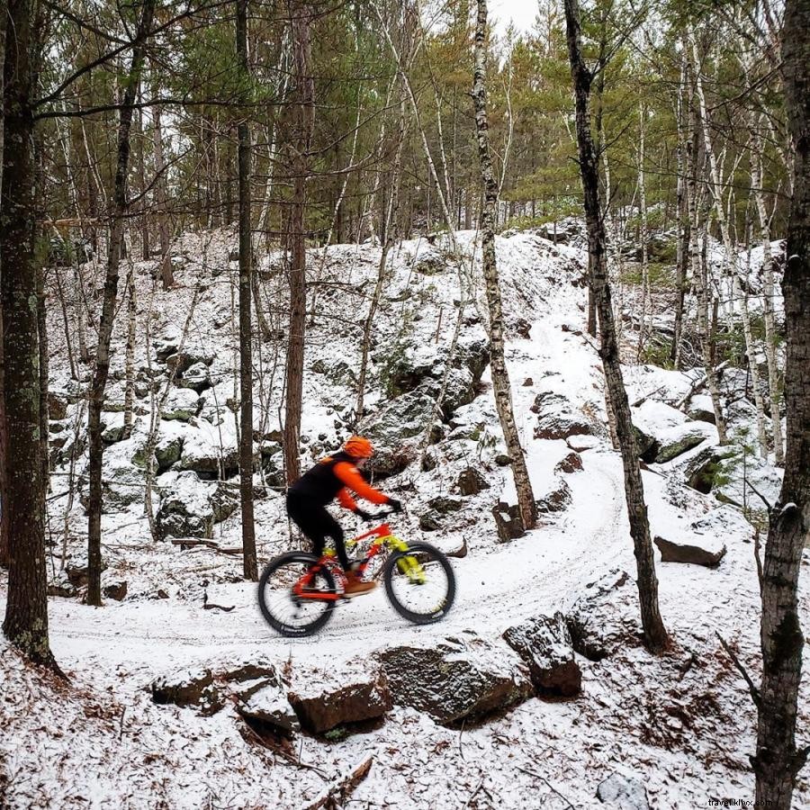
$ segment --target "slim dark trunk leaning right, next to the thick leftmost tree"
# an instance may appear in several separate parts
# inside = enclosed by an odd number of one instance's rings
[[[141,68],[145,39],[152,25],[155,0],[145,0],[137,34],[137,44],[132,49],[130,75],[121,101],[118,125],[118,152],[115,180],[110,201],[110,241],[107,246],[107,273],[104,280],[101,323],[98,328],[98,344],[95,350],[95,369],[90,387],[87,409],[87,432],[89,434],[90,497],[87,506],[87,604],[101,605],[101,515],[102,515],[102,463],[103,442],[101,414],[104,404],[104,389],[110,372],[110,341],[118,297],[118,278],[121,266],[121,247],[124,235],[124,217],[127,211],[127,174],[130,166],[130,130],[134,110],[135,93]]]

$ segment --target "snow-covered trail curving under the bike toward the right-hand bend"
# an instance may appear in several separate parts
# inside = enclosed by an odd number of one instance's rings
[[[211,602],[234,606],[227,613],[177,600],[111,603],[91,608],[67,599],[50,601],[50,637],[68,670],[88,664],[99,674],[119,667],[144,676],[169,666],[192,666],[255,654],[320,662],[373,653],[386,644],[439,639],[475,630],[500,634],[521,618],[563,608],[588,581],[616,564],[632,563],[617,456],[585,454],[585,471],[573,475],[572,506],[555,524],[483,556],[452,561],[458,592],[442,622],[411,626],[385,599],[382,588],[341,603],[320,635],[285,639],[266,625],[253,583],[211,588]],[[142,683],[139,683],[142,686]]]

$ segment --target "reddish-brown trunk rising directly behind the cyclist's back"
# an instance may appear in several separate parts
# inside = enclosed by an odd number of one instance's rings
[[[315,124],[315,80],[312,76],[311,21],[306,2],[288,0],[293,28],[293,73],[296,103],[293,112],[293,211],[290,217],[290,335],[287,343],[286,407],[284,411],[284,467],[287,483],[301,475],[301,412],[304,338],[307,327],[307,240],[304,232],[310,146]]]

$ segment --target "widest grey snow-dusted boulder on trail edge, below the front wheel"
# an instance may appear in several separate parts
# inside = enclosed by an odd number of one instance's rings
[[[425,647],[392,647],[379,655],[393,702],[444,725],[478,719],[532,695],[518,656],[472,633]]]

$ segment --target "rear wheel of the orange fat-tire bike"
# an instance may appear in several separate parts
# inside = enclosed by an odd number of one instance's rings
[[[338,590],[326,566],[320,566],[309,579],[308,572],[318,557],[289,552],[267,563],[259,577],[258,602],[262,616],[275,631],[290,638],[312,635],[332,617]],[[299,585],[299,593],[293,586]]]

